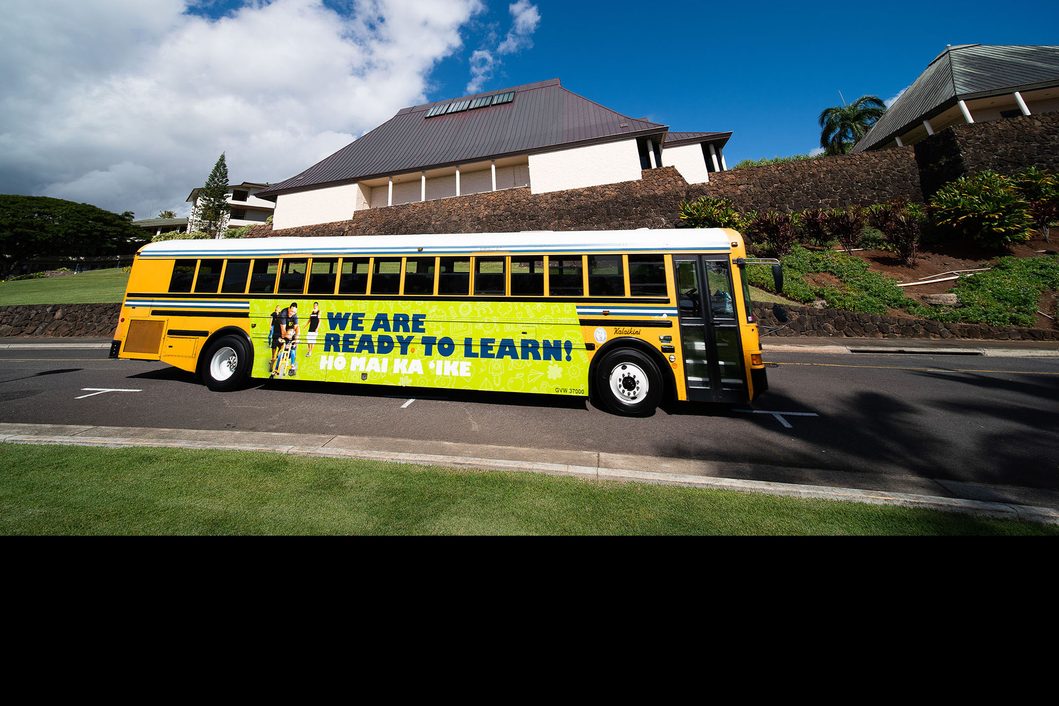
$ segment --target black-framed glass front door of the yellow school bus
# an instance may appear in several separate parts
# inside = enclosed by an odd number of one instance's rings
[[[687,399],[746,402],[747,376],[728,258],[674,255]]]

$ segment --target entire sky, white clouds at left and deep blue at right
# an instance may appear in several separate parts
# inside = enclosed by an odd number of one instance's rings
[[[19,0],[0,14],[0,193],[186,214],[217,156],[287,179],[398,109],[559,77],[729,165],[808,152],[947,43],[1043,44],[1059,2]]]

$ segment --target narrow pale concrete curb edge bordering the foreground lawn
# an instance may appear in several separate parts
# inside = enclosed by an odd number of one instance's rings
[[[522,471],[545,473],[550,475],[570,475],[593,481],[653,483],[661,485],[684,486],[689,488],[738,490],[743,492],[756,492],[787,497],[808,497],[815,500],[866,503],[870,505],[916,507],[943,512],[958,512],[977,517],[1021,520],[1059,525],[1059,510],[1046,507],[961,500],[941,497],[937,495],[917,495],[880,490],[862,490],[858,488],[771,483],[764,481],[687,475],[681,473],[611,469],[600,468],[598,466],[578,466],[572,464],[544,464],[502,458],[477,458],[444,454],[371,451],[365,449],[343,449],[336,447],[303,447],[285,443],[231,443],[218,441],[196,441],[191,439],[160,439],[139,436],[119,437],[70,436],[62,434],[8,434],[0,436],[0,441],[5,443],[39,443],[104,448],[162,447],[216,451],[259,451],[294,454],[300,456],[359,458],[369,460],[385,460],[397,464],[445,466],[449,468],[465,468],[474,470]]]

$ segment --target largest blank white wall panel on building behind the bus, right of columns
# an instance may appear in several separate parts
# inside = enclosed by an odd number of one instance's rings
[[[534,194],[635,181],[642,177],[635,140],[531,155],[530,174]]]

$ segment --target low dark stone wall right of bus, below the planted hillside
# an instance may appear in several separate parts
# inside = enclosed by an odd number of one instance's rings
[[[754,316],[765,326],[778,326],[771,304],[755,303]],[[946,324],[926,319],[883,316],[839,309],[783,305],[790,326],[773,336],[869,339],[977,339],[987,341],[1059,341],[1059,331],[1018,326]]]

